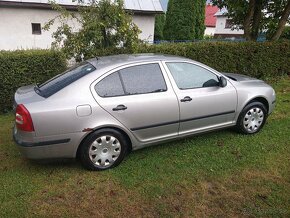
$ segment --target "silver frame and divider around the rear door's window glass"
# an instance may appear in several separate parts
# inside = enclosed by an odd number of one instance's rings
[[[162,90],[162,91],[159,91],[159,92],[147,92],[147,93],[127,94],[126,93],[126,89],[125,89],[125,85],[124,85],[124,82],[123,82],[123,79],[122,79],[122,76],[120,74],[120,71],[123,70],[123,69],[126,69],[126,68],[130,68],[130,67],[141,66],[141,65],[149,65],[149,64],[157,64],[159,66],[159,69],[160,69],[162,78],[164,80],[164,84],[165,84],[166,89],[165,90]],[[94,92],[96,93],[96,95],[98,97],[100,97],[100,98],[126,97],[126,96],[148,95],[148,94],[157,94],[157,93],[168,92],[168,85],[167,85],[167,82],[166,82],[166,79],[165,79],[165,76],[164,76],[164,73],[166,73],[166,72],[164,72],[164,70],[162,69],[162,67],[163,67],[163,65],[161,65],[161,63],[159,61],[154,61],[154,62],[139,62],[139,63],[122,65],[122,66],[120,66],[118,68],[115,68],[113,70],[110,70],[110,71],[104,73],[102,76],[100,76],[98,79],[96,79],[91,84],[91,87],[94,90]],[[118,73],[119,78],[120,78],[120,81],[121,81],[121,84],[122,84],[122,88],[123,88],[123,91],[124,91],[125,94],[123,94],[123,95],[115,95],[115,96],[100,96],[98,94],[97,90],[95,89],[96,85],[99,82],[101,82],[104,78],[106,78],[107,76],[110,76],[113,73]]]

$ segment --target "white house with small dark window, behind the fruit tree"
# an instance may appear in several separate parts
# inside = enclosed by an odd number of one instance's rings
[[[69,11],[77,10],[77,1],[56,2]],[[142,31],[139,38],[153,41],[155,15],[163,13],[159,0],[125,0],[124,8],[132,13],[133,22]],[[49,0],[0,0],[0,50],[50,48],[54,41],[52,33],[60,21],[56,20],[49,31],[42,28],[58,14]],[[80,28],[80,24],[72,20],[68,24],[74,30]]]

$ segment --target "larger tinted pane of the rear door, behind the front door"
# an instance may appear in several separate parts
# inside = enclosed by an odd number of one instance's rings
[[[120,70],[120,78],[127,95],[166,91],[166,83],[159,64],[142,64]]]

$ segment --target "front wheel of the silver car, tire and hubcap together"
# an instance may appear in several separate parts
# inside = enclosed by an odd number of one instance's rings
[[[236,127],[243,134],[258,133],[266,122],[267,114],[264,104],[251,102],[240,113]]]

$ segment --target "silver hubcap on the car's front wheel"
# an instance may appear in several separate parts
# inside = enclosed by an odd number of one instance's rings
[[[264,121],[264,112],[261,108],[254,107],[250,109],[243,120],[244,128],[249,132],[256,132]]]

